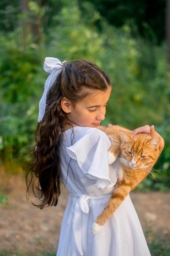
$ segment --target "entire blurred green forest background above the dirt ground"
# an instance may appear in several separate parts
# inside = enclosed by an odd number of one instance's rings
[[[49,74],[46,56],[95,62],[113,94],[103,124],[155,125],[165,148],[140,191],[170,188],[170,1],[1,0],[0,166],[23,173],[38,103]]]

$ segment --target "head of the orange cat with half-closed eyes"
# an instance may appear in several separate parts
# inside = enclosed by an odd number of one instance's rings
[[[146,133],[129,135],[120,132],[120,161],[126,166],[139,169],[149,167],[159,156],[160,137],[152,138]]]

